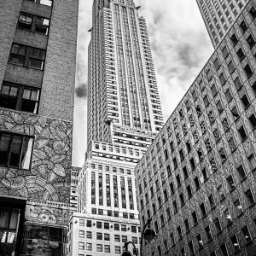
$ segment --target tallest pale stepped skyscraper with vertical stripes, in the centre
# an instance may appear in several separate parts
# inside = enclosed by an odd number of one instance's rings
[[[93,3],[88,77],[88,147],[79,172],[79,213],[70,255],[120,255],[138,248],[134,168],[163,125],[143,17],[131,0]]]

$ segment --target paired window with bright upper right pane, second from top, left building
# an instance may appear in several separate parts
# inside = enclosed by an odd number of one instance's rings
[[[18,20],[18,28],[38,32],[48,35],[49,32],[49,19],[20,13]]]

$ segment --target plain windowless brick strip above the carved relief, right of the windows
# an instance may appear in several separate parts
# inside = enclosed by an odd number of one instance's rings
[[[79,1],[54,2],[39,114],[73,120]]]

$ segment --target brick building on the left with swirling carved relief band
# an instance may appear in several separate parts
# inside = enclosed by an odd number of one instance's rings
[[[66,255],[79,1],[0,1],[0,255]]]

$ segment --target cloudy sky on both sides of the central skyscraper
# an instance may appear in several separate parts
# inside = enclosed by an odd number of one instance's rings
[[[93,0],[79,1],[79,33],[73,130],[73,166],[86,151],[87,59]],[[165,121],[213,53],[195,0],[134,0],[146,19]]]

